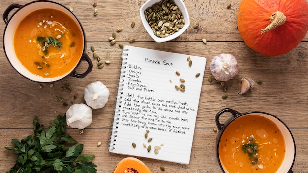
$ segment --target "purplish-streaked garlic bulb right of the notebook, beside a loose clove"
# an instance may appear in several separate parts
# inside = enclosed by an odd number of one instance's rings
[[[220,54],[210,64],[212,75],[217,81],[228,81],[238,74],[238,63],[231,54]]]

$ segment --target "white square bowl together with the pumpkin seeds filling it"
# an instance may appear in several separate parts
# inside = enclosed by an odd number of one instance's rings
[[[148,0],[140,8],[144,28],[155,42],[177,38],[189,27],[189,15],[182,0]]]

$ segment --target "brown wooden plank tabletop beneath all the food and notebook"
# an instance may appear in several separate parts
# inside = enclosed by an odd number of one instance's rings
[[[1,0],[0,13],[12,3],[24,5],[31,0]],[[74,103],[84,103],[83,90],[91,82],[99,80],[110,90],[109,101],[103,109],[93,110],[93,121],[81,135],[78,129],[68,128],[67,132],[79,144],[84,144],[84,153],[94,154],[93,162],[99,173],[110,173],[125,155],[109,153],[107,149],[110,126],[114,113],[115,97],[120,74],[121,52],[118,45],[111,46],[108,38],[113,31],[122,27],[117,33],[117,43],[162,51],[191,54],[207,58],[195,134],[189,165],[139,158],[154,172],[161,172],[160,165],[166,173],[220,173],[222,172],[215,154],[217,134],[214,116],[223,108],[239,112],[264,111],[276,115],[290,128],[296,142],[296,160],[294,173],[308,173],[308,35],[291,52],[266,57],[248,48],[237,30],[237,12],[240,0],[184,0],[190,17],[190,26],[175,40],[156,43],[142,26],[139,9],[146,0],[56,0],[73,8],[81,21],[87,37],[87,53],[92,58],[90,46],[102,60],[110,60],[103,69],[95,66],[83,79],[67,77],[54,83],[53,87],[36,82],[19,75],[9,64],[3,51],[3,38],[0,38],[0,172],[9,170],[15,163],[16,155],[4,146],[12,146],[11,139],[21,140],[33,133],[32,121],[35,116],[45,127],[57,115],[63,115],[67,107],[61,101],[55,102],[56,96],[70,102],[78,94]],[[97,1],[98,15],[94,16],[93,2]],[[227,5],[231,3],[231,8]],[[131,28],[131,22],[136,23]],[[193,23],[200,26],[193,29]],[[2,20],[0,33],[3,34],[5,23]],[[134,43],[128,40],[134,38]],[[207,39],[207,44],[202,43]],[[210,83],[210,62],[220,53],[231,53],[238,61],[238,76],[225,83],[227,99],[222,99],[223,87],[219,81]],[[86,63],[78,68],[86,69]],[[240,79],[249,77],[262,80],[262,85],[255,85],[245,95],[239,95]],[[70,84],[71,92],[63,91],[62,86]],[[225,118],[229,118],[226,115]],[[100,147],[96,144],[102,142]],[[177,170],[177,171],[176,171]]]

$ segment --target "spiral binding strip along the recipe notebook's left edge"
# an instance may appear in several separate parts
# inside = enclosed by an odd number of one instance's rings
[[[116,147],[116,141],[117,141],[117,132],[118,132],[118,124],[120,120],[120,112],[121,112],[121,103],[122,103],[122,95],[123,95],[123,87],[124,87],[124,78],[126,73],[126,60],[128,56],[128,49],[123,49],[121,59],[121,71],[120,71],[120,77],[119,77],[119,86],[118,86],[118,93],[116,96],[116,104],[115,104],[115,113],[113,117],[113,123],[111,125],[110,135],[109,135],[109,150],[114,150]]]

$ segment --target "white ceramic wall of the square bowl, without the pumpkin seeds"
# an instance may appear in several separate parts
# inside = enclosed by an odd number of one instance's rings
[[[149,33],[149,35],[154,39],[155,42],[157,43],[162,43],[162,42],[166,42],[166,41],[170,41],[172,39],[177,38],[178,36],[180,36],[183,32],[185,32],[185,30],[189,27],[190,21],[189,21],[189,15],[188,15],[188,11],[186,9],[185,4],[183,3],[182,0],[173,0],[174,3],[178,6],[178,9],[182,12],[182,16],[185,20],[185,24],[183,26],[183,28],[181,28],[179,31],[175,32],[172,35],[169,35],[165,38],[160,38],[158,36],[156,36],[153,32],[153,30],[151,29],[151,26],[149,25],[148,21],[146,20],[144,11],[148,8],[151,7],[153,4],[160,2],[162,0],[148,0],[146,3],[144,3],[142,5],[142,7],[140,8],[140,17],[141,17],[141,21],[142,24],[144,26],[144,28],[147,30],[147,32]]]

